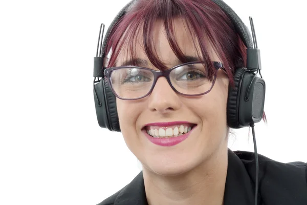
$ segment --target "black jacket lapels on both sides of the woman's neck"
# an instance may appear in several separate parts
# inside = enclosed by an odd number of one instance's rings
[[[255,185],[243,162],[228,150],[228,170],[225,185],[224,205],[254,204]],[[258,197],[260,204],[260,197]],[[123,188],[115,199],[114,205],[148,205],[143,172]]]

